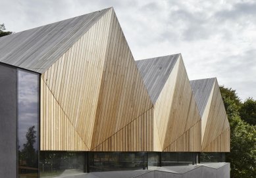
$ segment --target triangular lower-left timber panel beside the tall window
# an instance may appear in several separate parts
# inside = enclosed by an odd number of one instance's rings
[[[89,150],[68,116],[41,79],[41,150]]]

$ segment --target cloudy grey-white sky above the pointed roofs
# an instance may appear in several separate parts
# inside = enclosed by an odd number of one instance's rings
[[[256,1],[0,0],[0,24],[20,32],[114,7],[136,60],[181,53],[190,79],[218,79],[256,99]]]

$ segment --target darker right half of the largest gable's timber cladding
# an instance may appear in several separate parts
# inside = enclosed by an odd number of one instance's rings
[[[91,149],[153,150],[153,104],[114,11]]]

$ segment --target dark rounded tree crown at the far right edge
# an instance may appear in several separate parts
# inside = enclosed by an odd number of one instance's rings
[[[240,116],[245,122],[256,125],[256,100],[245,100],[240,108]]]

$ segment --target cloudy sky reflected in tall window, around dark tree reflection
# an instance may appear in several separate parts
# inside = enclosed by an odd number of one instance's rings
[[[19,150],[27,142],[28,128],[35,125],[37,132],[34,148],[38,150],[39,76],[18,70],[18,145]]]

